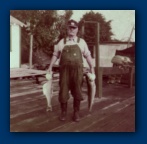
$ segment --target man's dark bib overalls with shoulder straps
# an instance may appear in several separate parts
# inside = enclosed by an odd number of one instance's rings
[[[78,38],[79,42],[80,38]],[[66,40],[64,41],[66,43]],[[59,101],[66,103],[71,91],[74,100],[83,100],[81,85],[83,79],[82,53],[77,44],[65,45],[60,59]]]

